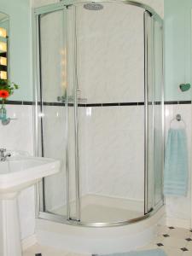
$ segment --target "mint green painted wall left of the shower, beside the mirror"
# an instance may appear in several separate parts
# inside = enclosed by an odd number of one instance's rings
[[[10,79],[20,90],[10,100],[32,101],[32,18],[30,0],[0,0],[9,15]]]

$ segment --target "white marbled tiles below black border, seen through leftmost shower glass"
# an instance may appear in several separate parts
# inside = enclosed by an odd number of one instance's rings
[[[44,157],[61,160],[61,172],[44,179],[46,209],[51,211],[66,202],[66,109],[44,106],[43,112]]]

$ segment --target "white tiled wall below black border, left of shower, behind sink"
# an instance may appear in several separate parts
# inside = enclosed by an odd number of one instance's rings
[[[32,106],[7,105],[9,125],[0,124],[0,148],[26,151],[33,154]],[[34,189],[25,189],[19,196],[21,237],[34,233]]]

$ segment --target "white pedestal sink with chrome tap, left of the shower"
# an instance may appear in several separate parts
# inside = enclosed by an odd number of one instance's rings
[[[14,156],[0,161],[0,255],[21,256],[17,195],[42,177],[60,171],[60,161]]]

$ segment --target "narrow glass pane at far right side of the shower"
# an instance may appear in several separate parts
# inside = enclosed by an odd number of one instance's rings
[[[163,25],[154,20],[154,206],[163,202]]]

